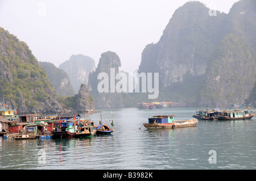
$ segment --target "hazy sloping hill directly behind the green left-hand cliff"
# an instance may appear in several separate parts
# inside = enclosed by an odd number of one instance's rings
[[[51,84],[55,87],[57,94],[63,95],[75,95],[71,81],[68,74],[50,62],[39,62],[39,65],[46,70],[47,77],[51,81]]]

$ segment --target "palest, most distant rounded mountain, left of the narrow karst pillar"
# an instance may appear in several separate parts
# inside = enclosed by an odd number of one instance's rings
[[[60,64],[59,68],[68,74],[76,94],[81,83],[88,85],[89,73],[96,69],[94,60],[82,54],[72,55],[69,60]]]

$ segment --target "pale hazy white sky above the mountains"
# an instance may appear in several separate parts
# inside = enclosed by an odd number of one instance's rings
[[[238,0],[200,0],[228,13]],[[141,53],[157,43],[174,11],[188,0],[0,0],[0,27],[25,41],[38,61],[59,66],[72,54],[118,54],[133,72]]]

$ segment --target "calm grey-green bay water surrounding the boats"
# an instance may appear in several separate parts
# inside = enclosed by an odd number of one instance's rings
[[[143,127],[148,117],[171,114],[176,115],[176,120],[192,119],[195,108],[100,111],[87,117],[98,124],[101,114],[103,123],[110,125],[113,112],[114,132],[110,136],[62,140],[0,137],[0,168],[256,169],[256,117],[200,121],[196,127],[148,131]],[[210,150],[216,151],[212,158],[216,163],[209,163]]]

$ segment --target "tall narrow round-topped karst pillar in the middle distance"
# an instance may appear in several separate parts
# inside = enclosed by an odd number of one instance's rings
[[[110,70],[114,70],[114,76],[119,72],[119,66],[121,66],[121,61],[118,55],[114,52],[105,52],[101,54],[100,61],[98,63],[96,71],[89,74],[89,89],[90,94],[94,98],[96,108],[109,108],[109,107],[123,107],[121,93],[111,92],[110,88]],[[106,73],[108,74],[108,86],[109,90],[107,92],[100,93],[98,91],[98,83],[102,80],[98,80],[98,74]]]

